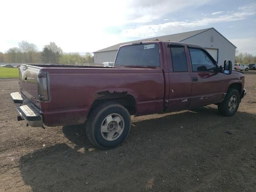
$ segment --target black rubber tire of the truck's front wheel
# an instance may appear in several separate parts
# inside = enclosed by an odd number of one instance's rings
[[[233,100],[233,97],[236,98],[236,107],[234,107],[234,105],[232,107],[229,107],[229,102],[231,97],[232,97],[231,100]],[[236,113],[236,111],[238,110],[239,104],[240,104],[240,94],[238,90],[234,88],[230,88],[228,89],[228,92],[226,94],[224,101],[218,104],[218,111],[220,112],[221,115],[230,117]],[[232,102],[231,102],[231,105],[232,105]]]

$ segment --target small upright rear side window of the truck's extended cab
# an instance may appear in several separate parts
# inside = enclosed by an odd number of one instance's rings
[[[188,63],[184,47],[171,47],[172,69],[174,72],[188,71]]]

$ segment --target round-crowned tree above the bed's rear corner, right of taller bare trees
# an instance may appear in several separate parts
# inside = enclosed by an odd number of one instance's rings
[[[50,42],[49,45],[45,45],[42,51],[42,60],[46,63],[59,64],[59,59],[62,56],[63,51],[54,42]]]

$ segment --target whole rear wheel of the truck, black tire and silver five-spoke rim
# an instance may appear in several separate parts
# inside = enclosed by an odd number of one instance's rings
[[[110,149],[124,142],[130,128],[128,110],[116,102],[106,102],[89,114],[86,134],[94,146]]]

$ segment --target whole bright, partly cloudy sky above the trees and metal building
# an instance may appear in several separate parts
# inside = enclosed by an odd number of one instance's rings
[[[214,27],[256,55],[256,0],[3,0],[0,52],[26,40],[39,50],[94,52],[120,42]]]

